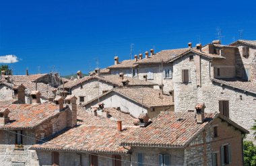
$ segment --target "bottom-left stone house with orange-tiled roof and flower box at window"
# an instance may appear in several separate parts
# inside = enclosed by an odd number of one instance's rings
[[[1,165],[40,165],[36,151],[30,150],[46,137],[76,125],[75,97],[63,106],[59,97],[55,103],[7,104],[0,110]]]

